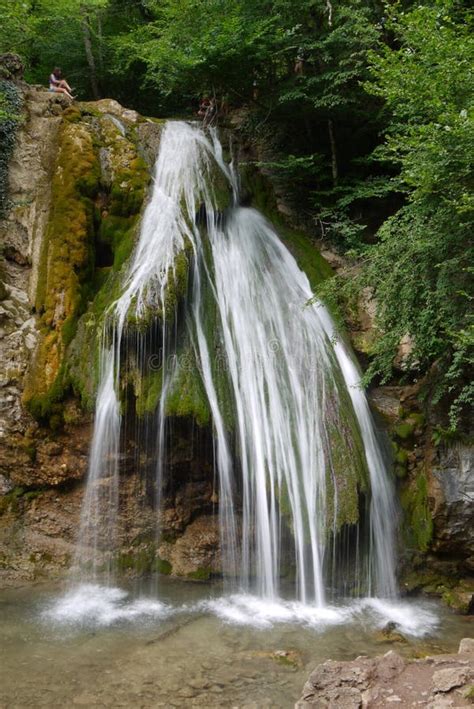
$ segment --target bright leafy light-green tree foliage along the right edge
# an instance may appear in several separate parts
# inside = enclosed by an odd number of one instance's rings
[[[435,365],[431,395],[448,397],[452,429],[474,401],[474,40],[468,17],[453,10],[446,0],[394,12],[399,48],[371,55],[367,88],[390,110],[377,153],[399,165],[407,204],[381,227],[362,278],[374,289],[381,332],[369,377],[390,378],[396,346],[410,335],[407,366]]]

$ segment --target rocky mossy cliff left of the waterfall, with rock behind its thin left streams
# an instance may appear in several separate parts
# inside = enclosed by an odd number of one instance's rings
[[[22,93],[10,208],[0,223],[4,584],[49,577],[70,563],[88,464],[97,337],[135,242],[161,130],[115,101],[70,106],[44,90],[23,86]],[[168,555],[175,573],[209,574],[218,534],[208,517],[207,434],[183,435],[167,462],[173,482],[164,491],[160,570],[171,570]],[[192,460],[191,441],[202,448]],[[129,481],[133,446],[130,438],[123,463]],[[153,504],[146,490],[140,509],[132,495],[123,497],[118,563],[124,571],[145,571]],[[175,549],[170,540],[200,515],[196,534]]]

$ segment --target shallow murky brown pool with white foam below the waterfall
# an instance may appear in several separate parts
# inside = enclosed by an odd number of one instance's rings
[[[0,593],[0,706],[292,707],[327,659],[453,651],[468,617],[428,601],[324,609],[207,584]],[[397,623],[405,643],[380,629]]]

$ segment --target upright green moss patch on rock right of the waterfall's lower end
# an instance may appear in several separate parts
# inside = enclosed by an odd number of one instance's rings
[[[407,482],[400,500],[405,514],[403,530],[409,547],[427,551],[433,537],[433,518],[428,500],[428,481],[424,471]]]

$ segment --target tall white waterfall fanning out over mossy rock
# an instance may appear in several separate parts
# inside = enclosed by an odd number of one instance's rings
[[[343,575],[353,576],[355,592],[392,597],[393,490],[360,373],[327,309],[308,305],[308,279],[271,224],[237,206],[237,182],[215,131],[165,125],[138,243],[121,295],[105,316],[75,566],[89,576],[91,567],[93,575],[113,574],[122,379],[127,359],[143,357],[153,340],[145,342],[140,323],[154,322],[162,348],[153,448],[157,495],[167,400],[179,372],[167,355],[175,354],[173,332],[184,326],[212,416],[230,587],[277,598],[290,572],[294,595],[323,606],[326,587],[345,563]],[[234,194],[224,213],[217,183]],[[190,275],[180,314],[169,294],[183,254]],[[211,325],[209,303],[216,311]],[[337,553],[344,530],[357,540],[345,561]]]

